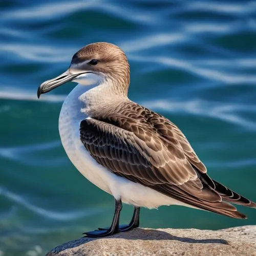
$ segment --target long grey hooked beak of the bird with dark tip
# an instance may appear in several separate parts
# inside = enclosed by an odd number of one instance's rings
[[[65,73],[51,79],[43,82],[37,89],[37,97],[39,99],[40,95],[43,93],[48,93],[52,91],[53,89],[61,86],[61,84],[64,84],[66,82],[70,82],[74,80],[77,76],[79,76],[81,73],[78,74],[72,74],[70,70],[67,70]]]

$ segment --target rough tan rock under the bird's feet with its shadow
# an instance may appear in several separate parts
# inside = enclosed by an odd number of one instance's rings
[[[47,253],[47,256],[70,255],[256,256],[256,225],[217,231],[136,228],[108,238],[80,238]]]

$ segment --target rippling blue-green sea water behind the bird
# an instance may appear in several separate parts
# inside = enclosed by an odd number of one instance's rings
[[[214,179],[256,201],[255,1],[0,2],[0,255],[44,255],[111,223],[113,198],[84,179],[58,135],[66,84],[37,100],[82,46],[108,41],[131,64],[130,98],[175,122]],[[141,226],[256,224],[179,206]],[[127,223],[132,207],[125,206]]]

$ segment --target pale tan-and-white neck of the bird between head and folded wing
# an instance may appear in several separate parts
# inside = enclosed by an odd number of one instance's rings
[[[125,88],[111,79],[106,79],[90,88],[84,86],[84,93],[79,97],[84,105],[81,112],[89,117],[100,117],[111,112],[121,102],[129,100]]]

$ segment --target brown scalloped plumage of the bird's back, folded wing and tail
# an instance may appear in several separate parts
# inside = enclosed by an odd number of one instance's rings
[[[245,216],[222,199],[256,206],[209,178],[175,124],[132,101],[83,120],[80,136],[91,156],[114,174],[188,205],[234,218]]]

